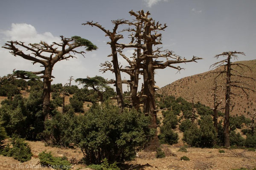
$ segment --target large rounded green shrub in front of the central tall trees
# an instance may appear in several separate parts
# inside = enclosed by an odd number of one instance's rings
[[[135,110],[119,113],[119,108],[93,105],[81,117],[77,129],[78,146],[87,164],[100,164],[104,158],[109,163],[134,159],[154,133],[149,128],[150,119]]]

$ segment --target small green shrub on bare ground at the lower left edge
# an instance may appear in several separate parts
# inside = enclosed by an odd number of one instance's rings
[[[24,139],[13,137],[12,138],[12,147],[7,145],[3,151],[3,156],[12,156],[18,161],[25,162],[31,159],[32,153],[29,147],[29,144],[24,142]]]

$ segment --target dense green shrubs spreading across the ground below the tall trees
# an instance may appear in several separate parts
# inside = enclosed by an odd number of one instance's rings
[[[6,83],[6,84],[5,84]],[[134,159],[138,150],[145,147],[154,134],[149,128],[150,119],[143,113],[131,109],[119,114],[116,106],[108,102],[115,96],[112,88],[105,88],[102,105],[98,105],[99,95],[93,89],[86,87],[79,89],[77,86],[65,86],[62,84],[52,85],[51,115],[52,118],[44,121],[42,116],[42,82],[40,80],[3,82],[2,91],[12,88],[12,94],[4,94],[8,99],[1,102],[0,108],[0,141],[7,136],[18,135],[28,140],[50,139],[47,144],[52,146],[81,148],[84,153],[84,162],[92,164],[95,170],[118,170],[117,164]],[[29,91],[29,97],[21,96],[20,90]],[[6,91],[9,91],[8,89]],[[17,94],[16,92],[17,91]],[[15,92],[15,93],[14,93]],[[70,97],[70,105],[65,105],[64,112],[58,107],[63,104],[63,93],[73,95]],[[124,94],[125,95],[125,94]],[[129,94],[127,94],[129,95]],[[92,102],[93,106],[84,113],[84,102]],[[129,101],[127,101],[128,103]],[[218,124],[218,133],[212,122],[212,111],[209,107],[195,104],[195,123],[190,120],[192,116],[192,104],[183,98],[174,96],[160,97],[158,102],[164,109],[163,124],[157,119],[160,126],[159,139],[163,144],[176,144],[178,135],[174,129],[183,132],[183,142],[195,147],[213,147],[223,145],[223,127],[221,121]],[[80,114],[77,114],[80,113]],[[84,113],[84,114],[81,114]],[[219,114],[221,116],[221,114]],[[179,122],[179,125],[178,125]],[[244,116],[230,117],[230,143],[237,147],[256,148],[256,135],[251,134],[250,129],[244,129],[249,125],[250,119]],[[242,133],[247,135],[243,138],[234,130],[243,128]],[[13,156],[20,161],[29,160],[31,152],[24,139],[13,138],[12,146],[1,144],[1,154]],[[17,148],[22,152],[17,153]],[[186,147],[178,151],[187,152]],[[157,158],[164,157],[164,152],[157,148]],[[40,153],[41,163],[44,165],[70,165],[65,158],[56,158],[51,153]],[[118,162],[118,163],[116,163]],[[57,166],[58,165],[58,166]],[[57,168],[58,169],[58,168]]]

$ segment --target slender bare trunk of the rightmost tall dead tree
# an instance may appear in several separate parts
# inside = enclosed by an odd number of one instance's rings
[[[229,116],[230,116],[230,77],[231,77],[231,65],[230,65],[230,58],[231,56],[228,56],[227,60],[227,86],[226,86],[226,104],[225,104],[225,119],[224,119],[224,146],[230,147],[230,138],[229,138]]]

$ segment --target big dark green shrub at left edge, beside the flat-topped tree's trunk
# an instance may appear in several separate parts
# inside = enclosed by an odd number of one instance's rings
[[[32,90],[28,99],[20,94],[13,100],[5,100],[0,108],[0,118],[8,136],[16,134],[21,138],[37,139],[44,130],[44,116],[42,113],[43,91]]]

